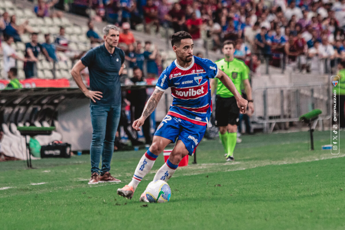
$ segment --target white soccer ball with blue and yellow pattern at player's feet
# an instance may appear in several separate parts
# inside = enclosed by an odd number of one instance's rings
[[[168,202],[171,196],[169,184],[164,180],[151,181],[145,191],[146,198],[150,203]]]

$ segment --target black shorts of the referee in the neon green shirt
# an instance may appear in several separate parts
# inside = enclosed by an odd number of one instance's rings
[[[238,126],[239,108],[235,97],[222,98],[216,96],[216,126]]]

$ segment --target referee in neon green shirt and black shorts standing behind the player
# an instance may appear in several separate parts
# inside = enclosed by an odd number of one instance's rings
[[[248,80],[247,66],[243,61],[234,58],[235,43],[227,40],[223,44],[225,58],[216,61],[218,68],[225,72],[230,79],[237,93],[241,94],[241,83],[243,82],[248,98],[248,112],[254,112],[252,88]],[[234,149],[237,139],[237,126],[240,110],[237,107],[238,99],[235,94],[226,87],[222,81],[211,80],[211,94],[216,93],[216,126],[219,127],[219,137],[223,144],[227,161],[234,160]]]

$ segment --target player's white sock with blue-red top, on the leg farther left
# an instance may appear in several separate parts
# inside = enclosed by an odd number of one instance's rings
[[[134,171],[134,176],[132,178],[132,181],[129,182],[129,186],[133,187],[133,190],[135,191],[138,187],[138,184],[142,180],[142,178],[145,177],[145,175],[152,169],[152,166],[154,165],[157,155],[150,152],[150,150],[147,150],[145,154],[141,157],[137,168]]]

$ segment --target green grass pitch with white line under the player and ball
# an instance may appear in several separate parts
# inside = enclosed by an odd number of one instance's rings
[[[144,151],[115,152],[119,184],[88,185],[90,156],[0,163],[0,229],[345,229],[345,152],[321,150],[330,131],[243,136],[235,161],[226,162],[219,139],[197,149],[197,164],[168,181],[167,203],[139,202],[164,162],[158,157],[132,200],[127,184]],[[340,135],[342,137],[342,135]],[[345,144],[345,139],[341,140]],[[41,184],[39,184],[41,183]]]

